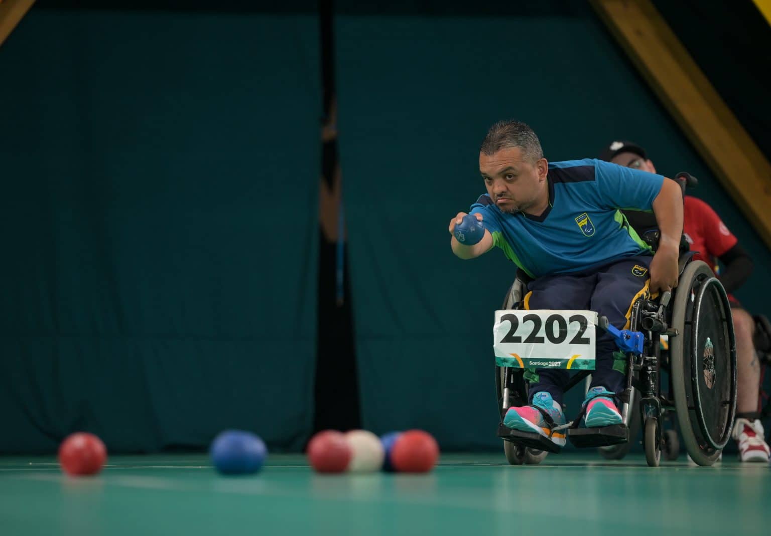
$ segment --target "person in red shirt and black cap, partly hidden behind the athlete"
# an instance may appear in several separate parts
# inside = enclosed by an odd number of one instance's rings
[[[656,173],[645,149],[636,143],[614,141],[607,146],[600,159],[619,166],[641,169]],[[752,273],[752,259],[739,246],[736,239],[720,216],[707,203],[693,196],[685,196],[683,213],[683,234],[688,240],[694,258],[703,260],[718,273],[718,260],[724,266],[719,274],[720,281],[729,293],[733,327],[736,333],[736,360],[738,393],[736,400],[736,422],[732,436],[739,446],[740,461],[765,461],[771,458],[769,446],[764,439],[763,425],[758,414],[760,363],[752,337],[755,321],[742,308],[731,292],[744,283]]]

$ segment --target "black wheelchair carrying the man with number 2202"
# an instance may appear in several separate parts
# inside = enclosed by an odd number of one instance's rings
[[[648,229],[641,236],[655,249],[657,229]],[[662,293],[652,300],[641,297],[633,303],[629,330],[619,332],[608,325],[607,319],[600,319],[599,326],[614,333],[625,356],[626,388],[616,394],[621,401],[623,423],[579,427],[581,410],[572,422],[564,425],[567,439],[575,447],[606,447],[621,452],[630,441],[633,421],[639,419],[645,459],[649,466],[658,467],[662,451],[675,450],[672,441],[677,441],[677,435],[674,430],[664,430],[662,423],[673,415],[685,449],[696,464],[710,466],[719,458],[731,437],[736,415],[736,341],[731,308],[722,284],[706,263],[692,260],[687,243],[682,247],[679,273],[678,286],[672,293]],[[503,310],[522,308],[528,282],[527,275],[517,270],[504,298]],[[668,337],[667,356],[662,356],[662,335]],[[670,372],[667,390],[662,390],[662,367]],[[549,452],[561,451],[561,447],[540,434],[503,425],[510,407],[527,405],[528,378],[533,373],[534,370],[511,362],[505,366],[497,362],[496,391],[501,419],[497,435],[503,439],[504,453],[512,465],[539,464]],[[581,384],[589,374],[591,370],[574,374],[564,390]]]

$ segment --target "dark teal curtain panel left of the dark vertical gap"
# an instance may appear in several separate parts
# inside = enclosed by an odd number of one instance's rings
[[[0,451],[311,431],[315,15],[33,8],[0,48]]]

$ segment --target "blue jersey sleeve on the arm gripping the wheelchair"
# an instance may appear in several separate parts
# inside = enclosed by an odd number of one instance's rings
[[[607,209],[652,210],[664,176],[594,160],[601,206]]]

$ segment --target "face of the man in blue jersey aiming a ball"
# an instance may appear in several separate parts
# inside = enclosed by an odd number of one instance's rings
[[[480,173],[487,193],[503,212],[516,213],[534,206],[548,172],[546,159],[523,159],[522,149],[500,149],[493,155],[480,152]]]

